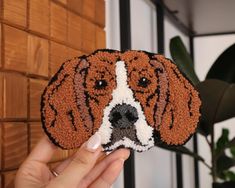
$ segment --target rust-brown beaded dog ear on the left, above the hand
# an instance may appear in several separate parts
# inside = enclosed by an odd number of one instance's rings
[[[42,95],[43,128],[64,149],[78,148],[92,134],[83,86],[88,66],[85,59],[65,62]]]

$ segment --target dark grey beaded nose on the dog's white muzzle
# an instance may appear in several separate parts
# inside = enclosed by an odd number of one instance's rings
[[[129,104],[118,104],[110,112],[109,121],[113,127],[128,128],[138,120],[135,107]]]

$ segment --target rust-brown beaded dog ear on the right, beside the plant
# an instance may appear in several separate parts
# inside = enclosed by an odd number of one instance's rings
[[[192,84],[177,66],[164,56],[154,56],[162,64],[160,92],[156,111],[156,130],[168,145],[182,145],[195,132],[200,118],[201,100]],[[159,65],[161,66],[161,65]],[[167,88],[164,88],[166,86]]]

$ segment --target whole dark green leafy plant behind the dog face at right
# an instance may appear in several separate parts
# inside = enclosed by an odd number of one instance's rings
[[[203,157],[184,146],[164,148],[189,155],[202,162],[210,169],[213,182],[218,182],[218,179],[235,181],[235,173],[230,170],[235,166],[235,137],[229,140],[228,129],[223,129],[218,140],[215,140],[214,136],[215,123],[235,117],[235,44],[217,58],[202,82],[195,73],[191,56],[180,37],[171,39],[170,52],[179,69],[200,93],[202,108],[198,133],[207,141],[212,161],[207,164]],[[229,150],[230,154],[225,150]]]

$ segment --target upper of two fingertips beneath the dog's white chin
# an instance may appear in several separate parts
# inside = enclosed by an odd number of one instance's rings
[[[107,169],[111,163],[117,161],[118,159],[126,160],[130,155],[128,149],[118,149],[108,156],[106,156],[102,161],[100,161],[95,167],[89,172],[85,178],[82,180],[80,187],[88,187],[93,181],[95,181],[104,171]]]

